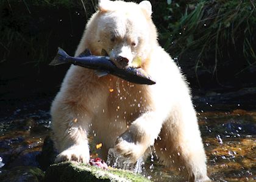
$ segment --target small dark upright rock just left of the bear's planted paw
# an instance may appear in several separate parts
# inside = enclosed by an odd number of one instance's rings
[[[51,164],[54,163],[56,156],[57,150],[54,149],[54,142],[50,136],[46,136],[43,142],[42,151],[37,156],[37,161],[40,165],[40,168],[46,170]]]

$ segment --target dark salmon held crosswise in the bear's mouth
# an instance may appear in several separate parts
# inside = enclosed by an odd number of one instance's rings
[[[102,52],[105,52],[104,49],[102,49]],[[132,67],[118,68],[106,54],[104,56],[92,55],[89,49],[85,49],[78,57],[72,57],[59,47],[57,55],[49,65],[57,66],[65,63],[94,69],[98,77],[112,74],[132,83],[145,85],[154,85],[156,83],[144,69]]]

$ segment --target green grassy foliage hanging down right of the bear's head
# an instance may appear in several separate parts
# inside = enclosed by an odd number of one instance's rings
[[[172,2],[168,9],[176,12],[176,4]],[[197,54],[195,71],[204,67],[212,74],[216,73],[220,62],[225,64],[226,58],[239,57],[246,60],[247,65],[255,65],[256,9],[253,1],[199,0],[187,1],[185,5],[185,12],[177,21],[167,16],[168,29],[161,34],[161,38],[167,40],[165,48],[174,57],[182,58],[193,52]]]

